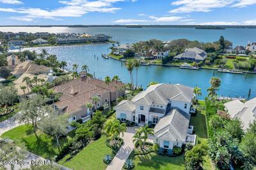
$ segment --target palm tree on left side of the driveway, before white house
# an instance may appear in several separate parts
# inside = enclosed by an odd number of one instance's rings
[[[109,121],[105,126],[106,133],[111,135],[111,138],[115,141],[115,145],[120,139],[120,135],[124,136],[124,132],[127,130],[125,123],[120,123],[119,120]]]

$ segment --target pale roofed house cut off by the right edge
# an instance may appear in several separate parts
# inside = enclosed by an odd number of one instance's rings
[[[239,118],[243,122],[243,129],[249,127],[250,123],[256,118],[256,98],[252,98],[243,103],[239,100],[233,100],[224,104],[230,114],[230,118]]]

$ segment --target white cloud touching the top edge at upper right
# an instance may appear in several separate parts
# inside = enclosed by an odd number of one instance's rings
[[[223,8],[235,1],[236,0],[178,0],[171,4],[179,7],[170,10],[170,13],[210,12],[214,8]]]

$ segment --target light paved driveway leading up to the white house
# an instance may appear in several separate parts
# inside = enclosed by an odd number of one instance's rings
[[[136,128],[139,127],[127,127],[127,132],[124,133],[124,144],[116,153],[115,158],[113,158],[111,164],[107,167],[106,170],[121,170],[124,166],[125,160],[129,157],[132,150],[134,149],[134,143],[132,143],[132,137],[135,134]],[[152,137],[148,137],[148,142],[153,142]]]

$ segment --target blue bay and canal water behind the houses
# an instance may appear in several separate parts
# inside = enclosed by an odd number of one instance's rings
[[[0,31],[26,31],[26,32],[51,32],[51,33],[88,33],[95,35],[104,33],[113,36],[113,40],[121,43],[133,43],[141,40],[156,38],[159,40],[175,40],[187,38],[200,42],[213,42],[223,35],[235,45],[246,45],[248,41],[256,42],[256,29],[225,29],[209,30],[194,28],[125,28],[125,27],[0,27]],[[101,54],[108,53],[110,44],[101,45],[75,45],[63,47],[44,47],[51,54],[56,54],[58,59],[67,63],[77,63],[80,66],[86,64],[90,73],[104,79],[106,76],[118,75],[123,82],[129,82],[130,76],[125,66],[114,59],[104,59]],[[30,48],[40,52],[42,48]],[[68,66],[69,67],[69,66]],[[71,66],[72,67],[72,66]],[[180,70],[176,67],[164,66],[140,66],[138,70],[138,84],[144,88],[150,81],[180,83],[187,86],[202,88],[202,97],[207,95],[209,79],[212,70]],[[252,97],[256,97],[256,75],[236,75],[230,73],[215,72],[215,76],[221,79],[219,94],[231,95],[232,97],[247,97],[248,91],[252,89]],[[134,72],[135,82],[135,72]]]

